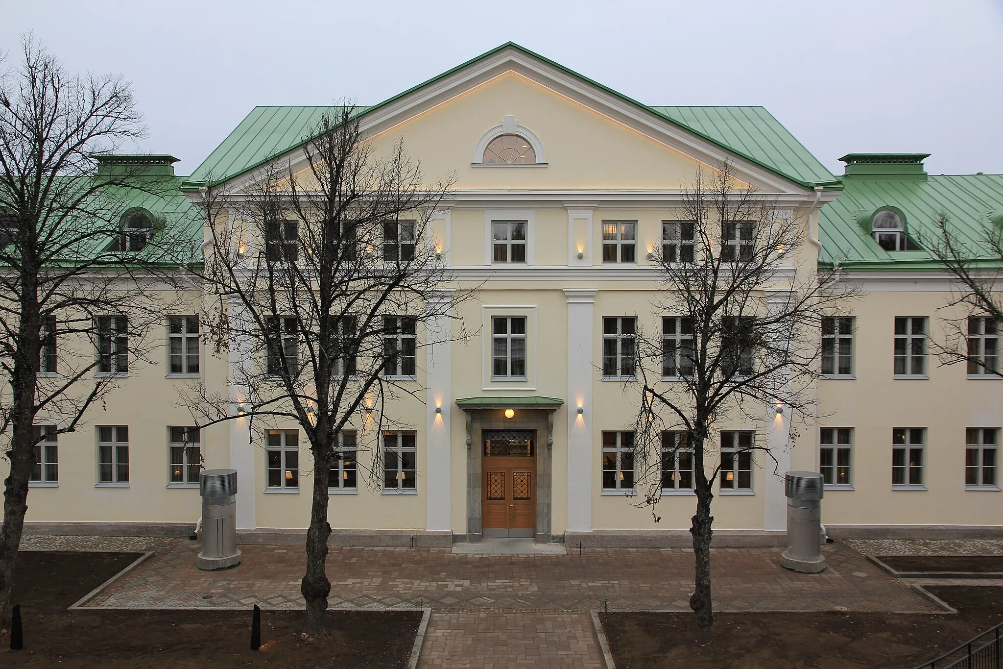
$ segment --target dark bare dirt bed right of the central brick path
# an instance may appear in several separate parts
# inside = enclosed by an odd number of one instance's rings
[[[931,587],[958,615],[721,613],[601,614],[617,669],[910,669],[1003,622],[1003,588]]]

